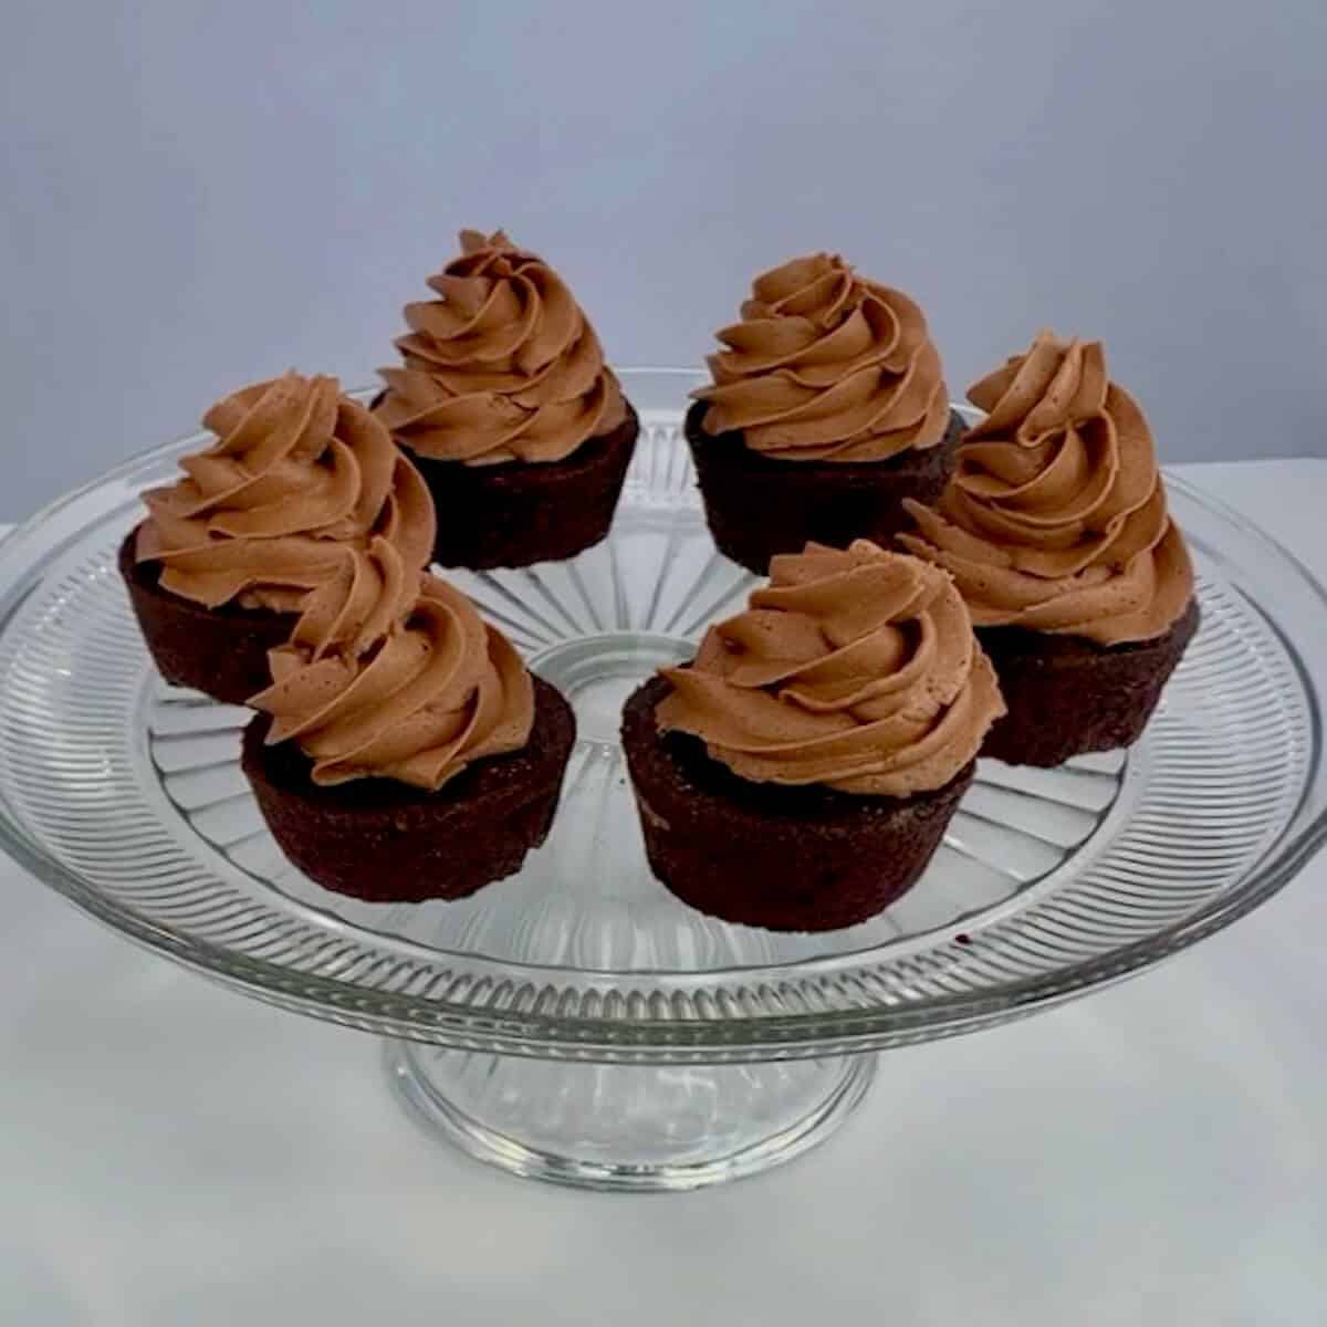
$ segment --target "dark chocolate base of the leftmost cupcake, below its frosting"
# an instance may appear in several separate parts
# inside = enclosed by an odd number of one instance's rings
[[[267,652],[291,638],[297,614],[182,598],[162,588],[158,563],[134,560],[137,535],[130,531],[119,545],[119,575],[161,675],[224,705],[243,705],[271,686]]]

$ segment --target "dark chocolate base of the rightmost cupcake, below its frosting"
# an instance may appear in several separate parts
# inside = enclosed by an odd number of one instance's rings
[[[1048,767],[1136,742],[1198,620],[1192,600],[1165,636],[1111,646],[1016,626],[978,628],[1009,707],[982,755]]]

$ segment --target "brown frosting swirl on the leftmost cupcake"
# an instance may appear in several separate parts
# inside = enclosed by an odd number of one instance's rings
[[[143,494],[138,561],[207,608],[295,612],[344,565],[344,545],[390,544],[418,572],[433,552],[433,502],[414,466],[336,378],[291,372],[203,417],[216,442],[184,478]]]

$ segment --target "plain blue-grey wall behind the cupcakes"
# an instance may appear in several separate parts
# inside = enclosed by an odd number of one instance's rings
[[[253,378],[369,381],[460,226],[543,251],[618,362],[695,362],[833,248],[955,395],[1050,324],[1168,459],[1327,454],[1323,0],[3,13],[0,518]]]

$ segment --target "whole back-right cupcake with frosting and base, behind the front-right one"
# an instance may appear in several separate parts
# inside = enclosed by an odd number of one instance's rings
[[[734,561],[763,575],[807,540],[888,544],[905,498],[940,496],[963,422],[906,295],[813,253],[758,276],[718,338],[686,437]]]

